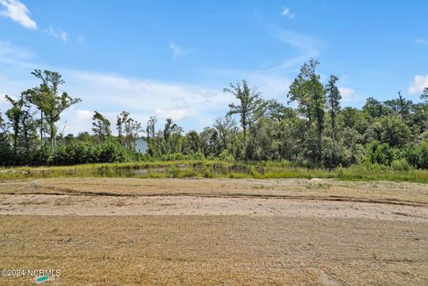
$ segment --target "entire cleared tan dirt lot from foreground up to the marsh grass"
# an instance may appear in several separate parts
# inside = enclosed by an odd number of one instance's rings
[[[43,285],[428,284],[425,184],[4,181],[0,217],[0,269]]]

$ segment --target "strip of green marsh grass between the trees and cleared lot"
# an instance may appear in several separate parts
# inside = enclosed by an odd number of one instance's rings
[[[392,168],[299,168],[287,162],[233,163],[220,160],[181,160],[76,166],[0,168],[1,180],[45,177],[136,177],[136,178],[323,178],[343,181],[396,181],[428,183],[428,170],[396,171]]]

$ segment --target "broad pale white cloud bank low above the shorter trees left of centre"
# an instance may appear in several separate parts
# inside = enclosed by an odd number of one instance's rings
[[[90,131],[92,110],[109,118],[113,129],[116,115],[121,110],[129,111],[131,117],[136,118],[143,126],[150,116],[155,115],[160,124],[163,124],[165,118],[172,118],[186,129],[202,129],[202,119],[210,118],[208,114],[225,113],[227,104],[233,99],[229,94],[223,93],[221,88],[162,83],[78,70],[57,70],[66,80],[66,85],[62,88],[70,96],[83,100],[62,115],[62,125],[64,121],[68,122],[64,134]],[[210,119],[214,119],[214,116]]]

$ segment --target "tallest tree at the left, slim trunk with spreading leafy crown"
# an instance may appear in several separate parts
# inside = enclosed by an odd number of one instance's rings
[[[62,86],[65,82],[58,72],[49,70],[42,72],[40,69],[35,69],[31,74],[40,79],[42,83],[40,86],[29,89],[25,92],[25,95],[28,101],[36,105],[37,109],[40,110],[40,124],[42,127],[44,120],[46,121],[49,128],[48,133],[51,137],[51,148],[54,151],[57,135],[56,122],[60,120],[63,110],[81,102],[81,100],[70,97],[66,92],[59,93],[59,86]],[[40,128],[41,132],[43,132],[42,127]]]

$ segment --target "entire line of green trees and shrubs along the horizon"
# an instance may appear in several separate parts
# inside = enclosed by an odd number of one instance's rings
[[[152,116],[145,128],[129,112],[117,116],[118,135],[111,122],[94,112],[92,132],[63,135],[58,122],[64,110],[81,102],[66,92],[57,72],[36,69],[40,85],[6,95],[10,109],[0,112],[0,161],[4,166],[72,165],[148,159],[287,160],[308,168],[389,166],[398,170],[428,168],[428,87],[420,102],[398,92],[391,100],[366,99],[361,109],[341,106],[339,78],[325,83],[319,62],[305,62],[292,81],[287,104],[266,100],[245,80],[224,92],[236,103],[202,132],[184,132],[167,118],[156,130]],[[136,151],[144,138],[147,152]]]

